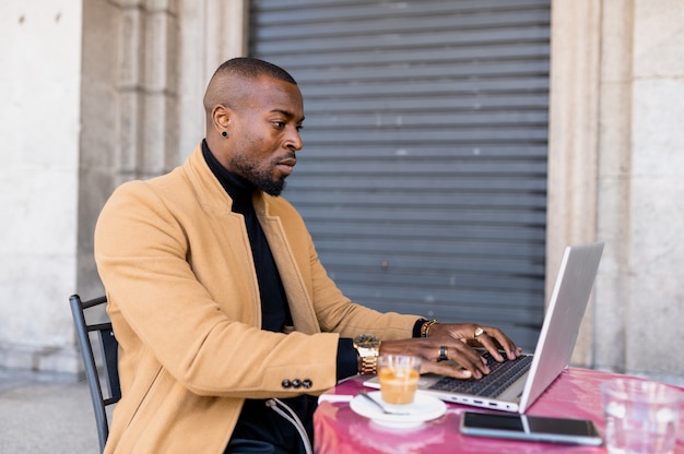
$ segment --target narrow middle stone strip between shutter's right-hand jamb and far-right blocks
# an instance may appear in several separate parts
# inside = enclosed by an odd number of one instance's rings
[[[632,0],[604,0],[601,33],[599,213],[597,235],[606,242],[597,279],[594,366],[625,370],[625,313],[629,292],[632,171]]]

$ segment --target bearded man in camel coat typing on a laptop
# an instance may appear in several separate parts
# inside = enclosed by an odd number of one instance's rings
[[[204,108],[207,138],[187,162],[121,186],[96,226],[122,389],[106,452],[297,452],[291,410],[310,438],[312,396],[372,373],[379,353],[459,378],[488,372],[471,346],[519,356],[495,327],[378,313],[335,287],[279,196],[303,147],[288,73],[228,60]]]

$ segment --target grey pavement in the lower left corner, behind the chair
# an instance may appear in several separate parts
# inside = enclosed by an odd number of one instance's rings
[[[95,416],[85,381],[0,370],[2,454],[96,454]]]

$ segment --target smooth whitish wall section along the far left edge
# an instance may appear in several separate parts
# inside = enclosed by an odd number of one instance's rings
[[[0,367],[76,367],[81,7],[0,3]]]

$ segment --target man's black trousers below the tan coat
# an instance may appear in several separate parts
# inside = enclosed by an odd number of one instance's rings
[[[304,395],[281,401],[302,420],[312,443],[317,397]],[[225,454],[247,453],[303,454],[305,450],[297,429],[267,406],[267,401],[247,399]]]

